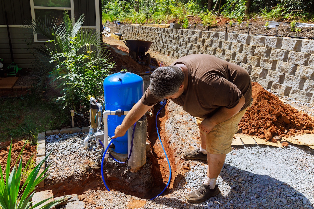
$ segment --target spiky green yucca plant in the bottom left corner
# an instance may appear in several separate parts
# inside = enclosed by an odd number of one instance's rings
[[[35,194],[35,189],[37,188],[37,185],[43,181],[48,174],[45,175],[45,172],[49,169],[50,165],[47,166],[47,168],[39,174],[41,166],[45,163],[46,159],[50,155],[50,153],[43,159],[41,162],[32,170],[29,174],[29,176],[26,178],[24,184],[20,188],[20,183],[21,183],[21,176],[22,176],[22,158],[23,158],[23,150],[25,145],[27,144],[27,141],[25,142],[18,160],[15,163],[11,173],[10,173],[10,168],[11,168],[11,149],[12,149],[12,141],[10,144],[10,149],[8,152],[8,160],[7,160],[7,166],[5,170],[5,176],[3,176],[2,168],[0,165],[0,208],[2,209],[32,209],[37,206],[40,206],[41,204],[45,203],[48,201],[50,198],[47,198],[46,200],[43,200],[41,202],[38,202],[34,205],[31,206],[32,202],[30,201],[32,197]],[[28,162],[25,165],[25,168],[30,164],[31,159],[33,158],[34,154],[31,156],[31,158],[28,160]],[[37,175],[39,176],[37,177]],[[66,197],[65,197],[66,198]],[[42,209],[48,209],[51,208],[52,206],[55,206],[59,204],[60,202],[64,201],[64,199],[56,200],[49,202],[42,206]]]

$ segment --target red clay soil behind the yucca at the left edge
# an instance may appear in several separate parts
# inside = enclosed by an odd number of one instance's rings
[[[14,167],[24,144],[25,144],[24,141],[12,142],[11,169]],[[7,166],[9,148],[10,148],[10,141],[0,142],[0,165],[3,171],[5,170]],[[30,159],[32,154],[34,154],[34,160],[36,160],[36,146],[31,146],[30,143],[27,143],[23,151],[23,160],[22,160],[23,167],[26,165],[27,161]]]

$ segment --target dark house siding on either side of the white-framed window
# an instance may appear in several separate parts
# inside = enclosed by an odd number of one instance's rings
[[[4,11],[8,13],[8,24],[10,25],[10,37],[14,62],[22,68],[32,67],[32,54],[26,44],[33,39],[33,34],[29,28],[23,27],[25,21],[31,19],[30,0],[8,0],[1,1],[0,6],[3,12],[0,13],[0,58],[5,64],[10,64],[11,53],[8,39],[8,31]],[[74,0],[74,16],[77,20],[80,15],[85,14],[84,26],[96,26],[95,0]],[[20,26],[19,26],[20,25]],[[95,33],[95,29],[92,32]],[[44,45],[45,43],[33,43],[33,47]]]

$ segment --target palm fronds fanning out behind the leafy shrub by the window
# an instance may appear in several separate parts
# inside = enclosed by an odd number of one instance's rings
[[[96,50],[89,55],[95,57],[94,63],[96,65],[101,66],[102,61],[100,59],[108,57],[108,50],[100,46],[100,34],[92,32],[91,29],[81,29],[84,24],[84,17],[83,13],[74,23],[74,19],[71,19],[68,12],[64,11],[61,24],[51,16],[37,17],[28,23],[33,34],[41,34],[49,39],[45,46],[34,47],[35,51],[32,52],[35,58],[33,73],[37,76],[34,83],[38,92],[41,92],[47,76],[55,67],[55,63],[51,62],[51,57],[55,54],[71,52],[73,46],[71,42],[74,37],[76,43],[83,48],[86,45],[95,47]],[[77,53],[84,55],[85,51],[81,50]]]

